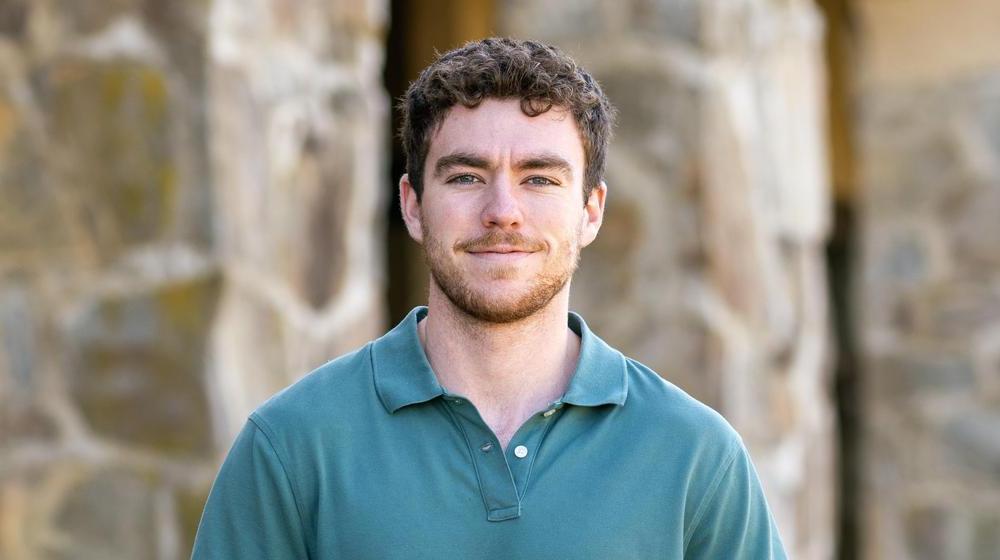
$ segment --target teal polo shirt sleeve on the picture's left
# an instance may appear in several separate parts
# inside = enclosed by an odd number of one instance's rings
[[[215,478],[191,558],[308,557],[291,481],[272,442],[251,419]]]

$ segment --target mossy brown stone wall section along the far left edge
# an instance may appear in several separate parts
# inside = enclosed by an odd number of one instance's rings
[[[0,557],[180,558],[216,450],[197,2],[0,3]]]

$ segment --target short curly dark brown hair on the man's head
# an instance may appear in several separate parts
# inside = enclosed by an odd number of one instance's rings
[[[614,107],[597,80],[556,47],[496,37],[440,55],[400,100],[403,124],[399,135],[417,200],[423,193],[431,137],[449,109],[457,103],[473,108],[487,98],[520,98],[521,110],[531,117],[553,107],[573,114],[586,155],[586,203],[604,177]]]

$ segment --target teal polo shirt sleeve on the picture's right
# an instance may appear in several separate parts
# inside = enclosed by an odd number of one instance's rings
[[[728,463],[728,464],[727,464]],[[757,471],[739,445],[713,481],[685,538],[687,559],[786,559]]]

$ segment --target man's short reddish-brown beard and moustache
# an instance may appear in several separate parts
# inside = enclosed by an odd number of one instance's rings
[[[475,239],[458,242],[449,249],[426,226],[423,238],[424,259],[434,284],[456,308],[486,323],[514,323],[538,313],[562,291],[580,261],[577,232],[574,238],[560,244],[543,265],[543,270],[530,280],[527,289],[493,294],[484,287],[475,286],[470,281],[470,273],[459,268],[453,254],[501,244],[543,251],[546,245],[520,233],[490,231]],[[511,279],[518,272],[517,265],[498,264],[487,271],[487,281]]]

